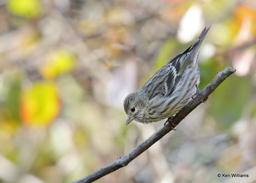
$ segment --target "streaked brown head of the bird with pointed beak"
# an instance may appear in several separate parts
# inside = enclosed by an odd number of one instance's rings
[[[145,110],[145,99],[143,99],[143,95],[140,95],[139,92],[133,92],[127,95],[124,99],[124,111],[127,115],[125,125],[127,126],[132,120],[140,122],[140,119],[143,119]]]

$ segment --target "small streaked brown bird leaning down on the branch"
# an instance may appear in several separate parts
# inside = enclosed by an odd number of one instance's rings
[[[174,130],[173,115],[187,105],[191,98],[197,96],[204,102],[198,89],[200,73],[197,59],[199,47],[209,28],[205,27],[187,50],[157,70],[138,91],[127,95],[124,99],[126,125],[132,120],[147,124],[168,118],[164,125],[169,122],[170,128]]]

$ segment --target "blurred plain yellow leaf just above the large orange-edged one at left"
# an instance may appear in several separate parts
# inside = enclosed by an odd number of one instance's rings
[[[73,54],[58,50],[52,53],[41,73],[46,78],[54,78],[60,74],[65,74],[75,67],[75,59]]]

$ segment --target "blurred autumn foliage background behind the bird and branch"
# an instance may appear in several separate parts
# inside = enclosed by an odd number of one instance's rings
[[[68,183],[130,152],[164,121],[125,127],[125,96],[210,25],[199,88],[236,73],[96,182],[256,182],[254,0],[0,0],[0,182]]]

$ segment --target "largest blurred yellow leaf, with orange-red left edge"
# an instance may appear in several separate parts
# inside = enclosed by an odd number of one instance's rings
[[[28,126],[45,127],[60,113],[60,102],[54,84],[36,82],[21,93],[20,116]]]

